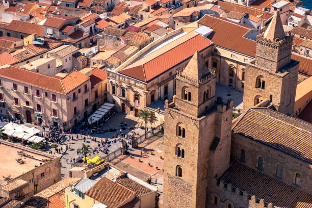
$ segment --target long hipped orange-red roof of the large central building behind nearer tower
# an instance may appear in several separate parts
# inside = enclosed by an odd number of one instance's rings
[[[147,60],[145,63],[139,65],[134,63],[124,69],[119,70],[118,72],[134,77],[135,79],[141,80],[143,82],[148,82],[176,64],[190,59],[196,50],[201,51],[212,45],[212,42],[209,39],[201,35],[195,35],[194,37],[187,39],[186,41],[181,42],[171,48],[171,45],[174,44],[173,42],[172,44],[166,45],[167,47],[163,47],[163,50],[165,50],[163,53],[156,50],[154,53],[144,57],[144,60]],[[140,60],[138,63],[141,63]]]

